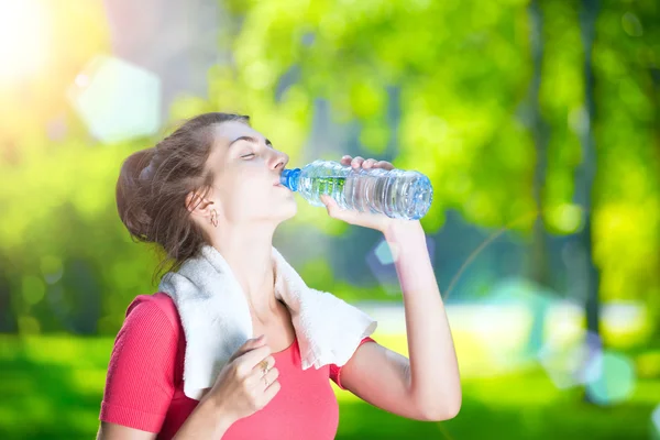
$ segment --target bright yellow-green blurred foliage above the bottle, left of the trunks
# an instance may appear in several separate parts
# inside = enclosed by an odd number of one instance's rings
[[[308,125],[309,105],[321,97],[336,121],[359,121],[361,154],[377,155],[393,134],[387,89],[396,86],[394,164],[433,180],[429,232],[448,208],[484,226],[532,211],[532,141],[515,116],[530,77],[524,1],[226,4],[240,28],[223,40],[231,63],[211,73],[216,107],[250,109],[295,154],[304,131],[293,129]],[[292,70],[298,80],[277,100],[273,89]],[[308,221],[305,211],[297,220]]]

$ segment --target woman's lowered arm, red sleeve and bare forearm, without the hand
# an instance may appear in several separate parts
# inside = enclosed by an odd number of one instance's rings
[[[178,333],[148,298],[131,304],[110,362],[97,439],[155,439],[175,389]],[[176,439],[219,439],[233,424],[206,394],[177,431]]]

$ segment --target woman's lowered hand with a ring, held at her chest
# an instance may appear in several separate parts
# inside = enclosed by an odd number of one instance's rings
[[[202,397],[216,402],[233,421],[264,408],[280,388],[277,382],[279,372],[274,367],[275,358],[271,355],[266,337],[262,334],[260,338],[249,339],[231,355],[213,386]],[[262,361],[267,362],[265,375]]]

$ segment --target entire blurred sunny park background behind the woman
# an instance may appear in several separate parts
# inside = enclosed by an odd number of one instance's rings
[[[94,438],[155,250],[121,162],[186,118],[249,114],[292,166],[432,182],[421,220],[463,405],[407,420],[334,387],[338,439],[660,436],[660,2],[0,3],[0,438]],[[275,245],[407,355],[380,233],[298,196]]]

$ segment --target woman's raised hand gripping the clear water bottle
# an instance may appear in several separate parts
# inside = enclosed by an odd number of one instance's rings
[[[394,169],[394,165],[386,161],[377,161],[375,158],[367,158],[366,161],[361,156],[351,157],[349,155],[341,158],[342,165],[351,165],[353,169],[360,167],[364,169],[370,168],[383,168],[386,170]],[[342,209],[337,201],[330,196],[321,196],[321,201],[328,209],[328,215],[333,219],[343,220],[346,223],[355,224],[359,227],[375,229],[381,232],[386,232],[392,227],[413,227],[413,223],[419,224],[419,220],[405,220],[405,219],[393,219],[385,216],[384,213],[373,212],[360,212],[352,209]]]

